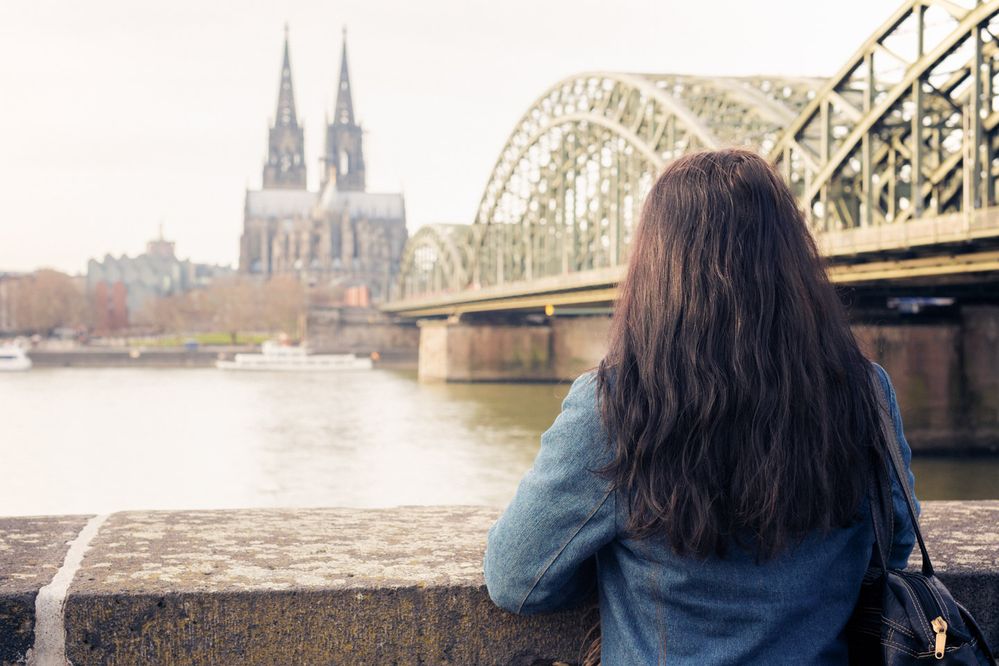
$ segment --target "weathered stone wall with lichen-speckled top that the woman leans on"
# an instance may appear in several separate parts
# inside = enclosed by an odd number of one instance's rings
[[[114,514],[65,604],[83,664],[550,664],[593,616],[522,618],[482,583],[476,507]],[[34,595],[86,517],[0,519],[0,662],[23,663]],[[940,577],[999,641],[999,501],[927,502]],[[915,560],[913,561],[913,563]]]

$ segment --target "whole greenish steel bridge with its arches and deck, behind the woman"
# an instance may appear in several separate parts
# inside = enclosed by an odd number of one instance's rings
[[[834,279],[999,270],[999,253],[980,251],[999,240],[997,35],[999,0],[909,0],[830,79],[560,81],[517,123],[474,223],[409,241],[386,309],[536,307],[556,292],[588,302],[620,278],[663,166],[725,146],[778,166]],[[962,259],[934,263],[955,244]]]

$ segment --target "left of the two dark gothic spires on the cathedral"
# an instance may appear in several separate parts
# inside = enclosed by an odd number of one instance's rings
[[[288,25],[285,24],[281,86],[278,88],[277,112],[267,144],[263,185],[265,190],[304,190],[305,182],[305,132],[295,115],[295,91],[291,85],[291,61],[288,57]]]

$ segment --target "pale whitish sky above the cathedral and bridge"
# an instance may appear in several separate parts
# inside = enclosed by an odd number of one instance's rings
[[[283,25],[310,186],[348,29],[368,189],[471,222],[527,107],[582,71],[829,76],[899,0],[3,0],[0,271],[82,272],[157,234],[235,264]]]

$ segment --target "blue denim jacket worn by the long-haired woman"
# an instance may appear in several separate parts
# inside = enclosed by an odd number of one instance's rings
[[[908,467],[895,392],[877,369]],[[489,531],[485,580],[497,605],[554,611],[584,601],[595,584],[607,666],[846,663],[843,628],[874,543],[866,502],[865,520],[811,535],[762,564],[738,548],[725,558],[681,557],[664,540],[622,532],[626,501],[592,471],[610,455],[591,371],[573,383],[534,466]],[[893,484],[889,565],[904,568],[915,536]]]

